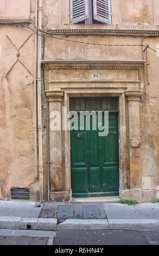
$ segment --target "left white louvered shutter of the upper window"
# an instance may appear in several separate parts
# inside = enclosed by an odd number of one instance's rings
[[[71,23],[78,23],[88,18],[89,0],[70,0]]]

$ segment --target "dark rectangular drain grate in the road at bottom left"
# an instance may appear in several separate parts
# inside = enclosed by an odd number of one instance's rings
[[[0,245],[47,245],[48,237],[0,236]]]

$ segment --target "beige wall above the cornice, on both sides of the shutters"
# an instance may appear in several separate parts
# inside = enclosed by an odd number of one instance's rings
[[[158,25],[158,0],[111,0],[113,25]],[[44,0],[44,24],[69,24],[69,0]]]

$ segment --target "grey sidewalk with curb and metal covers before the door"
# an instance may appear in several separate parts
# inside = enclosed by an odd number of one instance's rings
[[[159,203],[36,203],[0,200],[0,229],[157,230]]]

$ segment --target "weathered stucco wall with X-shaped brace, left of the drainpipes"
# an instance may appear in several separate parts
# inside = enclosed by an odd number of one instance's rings
[[[30,1],[1,1],[0,21],[33,17],[34,2],[30,13]],[[11,187],[29,187],[30,198],[39,198],[34,161],[34,39],[30,29],[0,27],[1,199],[10,199]]]

